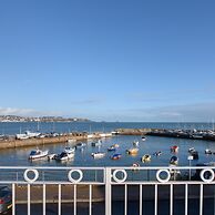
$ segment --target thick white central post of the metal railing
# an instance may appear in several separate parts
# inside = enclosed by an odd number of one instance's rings
[[[111,168],[105,168],[105,215],[111,215]]]

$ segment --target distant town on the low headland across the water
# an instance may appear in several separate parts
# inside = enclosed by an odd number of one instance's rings
[[[62,116],[18,116],[0,115],[0,122],[88,122],[88,119],[81,117],[62,117]]]

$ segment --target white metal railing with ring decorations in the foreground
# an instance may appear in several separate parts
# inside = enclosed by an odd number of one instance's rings
[[[191,186],[195,186],[195,192],[198,190],[193,197],[199,201],[198,212],[203,215],[204,212],[204,192],[208,192],[207,198],[215,196],[215,190],[208,190],[207,185],[215,186],[215,167],[208,166],[153,166],[153,167],[39,167],[39,166],[0,166],[0,184],[8,184],[12,188],[12,215],[19,214],[17,206],[19,205],[19,196],[16,193],[17,186],[25,187],[27,190],[27,208],[28,215],[31,214],[31,199],[33,186],[38,185],[42,187],[42,215],[47,214],[47,202],[48,192],[50,185],[58,186],[58,212],[57,214],[62,214],[62,204],[69,201],[73,204],[73,214],[78,214],[78,201],[79,201],[79,185],[84,185],[89,191],[84,195],[86,196],[86,202],[89,204],[89,215],[92,215],[92,204],[93,204],[93,190],[96,186],[104,187],[104,194],[100,196],[100,201],[105,201],[105,215],[112,215],[113,208],[112,203],[115,198],[124,202],[123,214],[129,214],[129,196],[130,187],[136,186],[139,196],[136,201],[139,202],[139,214],[143,213],[143,190],[147,186],[154,187],[154,194],[152,201],[154,201],[153,214],[158,214],[158,188],[163,185],[168,187],[168,193],[165,198],[168,198],[170,207],[166,215],[174,214],[174,191],[181,190],[177,186],[184,186],[183,196],[184,199],[184,214],[188,214],[188,192]],[[64,199],[62,196],[62,186],[72,185],[73,193],[70,199]],[[124,190],[119,190],[117,196],[114,196],[115,191],[119,187],[124,187]],[[181,191],[182,192],[182,191]],[[166,193],[165,193],[166,194]],[[101,194],[100,194],[101,195]],[[120,197],[119,197],[120,196]],[[150,197],[149,197],[150,198]],[[23,199],[22,199],[23,203]]]

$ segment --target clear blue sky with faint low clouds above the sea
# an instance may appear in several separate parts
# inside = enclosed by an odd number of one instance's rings
[[[1,0],[0,114],[215,119],[214,0]]]

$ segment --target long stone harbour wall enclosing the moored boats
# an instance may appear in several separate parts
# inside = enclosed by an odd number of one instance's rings
[[[116,129],[112,133],[93,133],[88,134],[85,132],[80,133],[64,133],[58,136],[48,137],[33,137],[27,140],[17,140],[8,137],[0,140],[0,150],[3,149],[16,149],[27,146],[39,146],[53,143],[65,143],[84,141],[89,139],[100,139],[111,136],[112,134],[117,135],[151,135],[151,136],[164,136],[164,137],[177,137],[177,139],[190,139],[190,140],[203,140],[203,141],[215,141],[215,131],[213,130],[167,130],[167,129]]]

